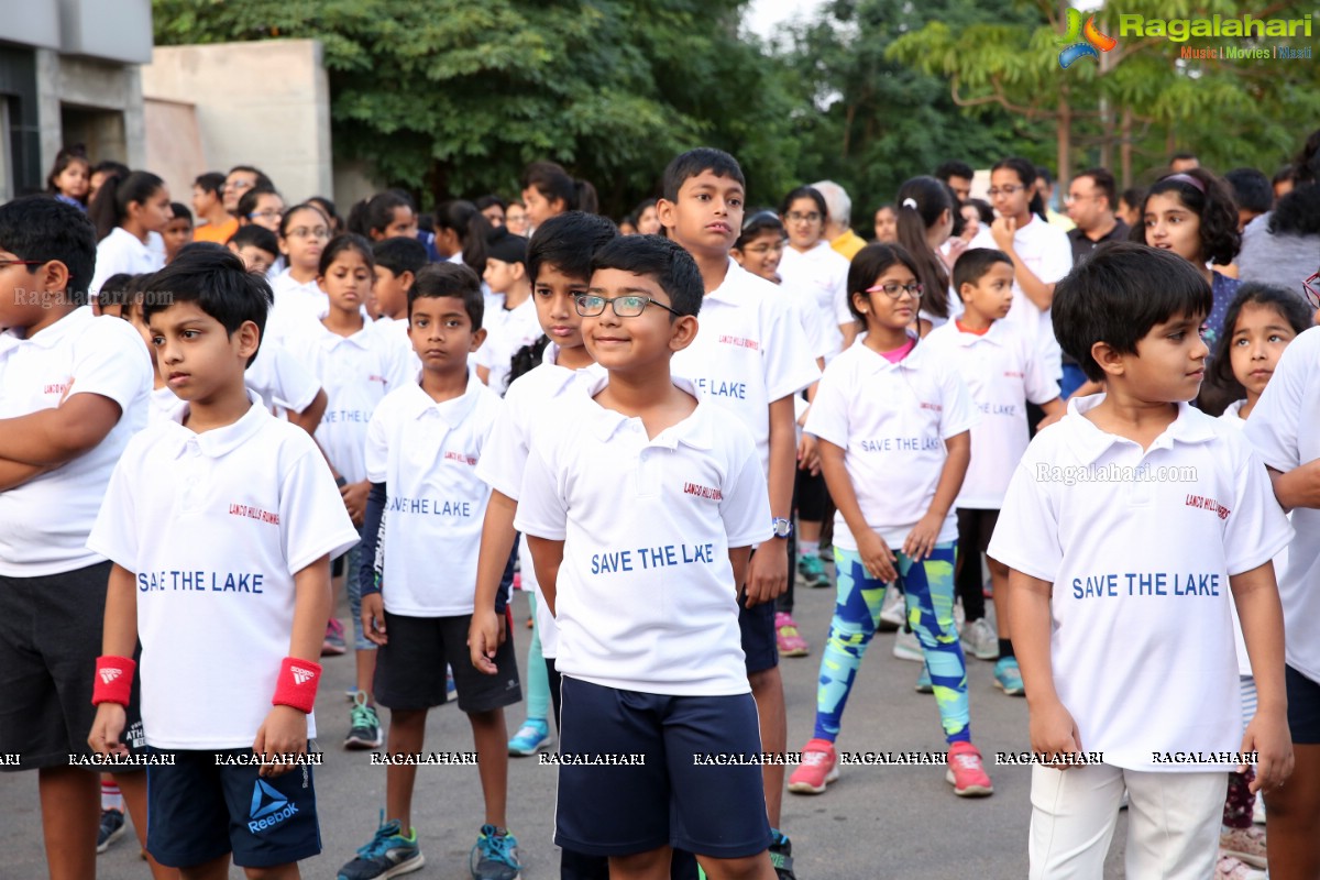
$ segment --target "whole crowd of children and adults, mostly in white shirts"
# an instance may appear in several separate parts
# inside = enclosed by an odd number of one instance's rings
[[[62,152],[0,206],[0,752],[50,876],[125,813],[157,880],[298,876],[351,650],[343,748],[391,761],[339,880],[424,864],[451,701],[475,880],[519,876],[508,761],[556,736],[562,877],[792,879],[784,792],[840,778],[890,631],[956,796],[994,793],[968,658],[1026,697],[1032,877],[1101,876],[1129,802],[1129,876],[1320,877],[1320,131],[1272,181],[1086,169],[1067,216],[1027,160],[975,181],[908,179],[869,241],[838,183],[751,208],[710,148],[618,223],[549,161],[341,216]],[[812,736],[763,760],[816,639]]]

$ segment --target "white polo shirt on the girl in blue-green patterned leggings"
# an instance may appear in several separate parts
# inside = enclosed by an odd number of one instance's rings
[[[843,449],[866,524],[898,550],[931,509],[949,458],[945,441],[969,430],[978,416],[949,359],[920,342],[892,364],[866,346],[866,336],[825,368],[804,430]],[[949,508],[939,541],[957,537],[957,515]],[[842,513],[834,515],[834,546],[857,550]]]

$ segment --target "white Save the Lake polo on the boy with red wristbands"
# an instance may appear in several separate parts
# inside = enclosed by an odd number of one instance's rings
[[[358,542],[321,450],[248,397],[232,425],[197,434],[183,404],[133,437],[87,540],[136,578],[157,748],[252,745],[289,654],[294,575]]]

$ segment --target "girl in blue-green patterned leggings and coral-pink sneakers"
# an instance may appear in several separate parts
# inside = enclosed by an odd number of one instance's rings
[[[990,794],[970,740],[966,662],[953,625],[953,501],[970,460],[975,409],[956,367],[908,334],[923,290],[907,251],[862,248],[847,289],[866,334],[825,368],[807,417],[838,507],[838,602],[821,658],[816,731],[788,790],[818,794],[838,778],[834,739],[843,706],[879,628],[884,594],[902,584],[949,743],[945,778],[958,796]]]

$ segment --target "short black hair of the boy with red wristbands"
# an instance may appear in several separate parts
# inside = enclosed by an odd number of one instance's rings
[[[236,253],[219,244],[183,247],[173,263],[143,284],[141,292],[143,321],[180,302],[195,302],[198,309],[219,321],[230,336],[248,321],[264,335],[265,317],[275,302],[265,278],[248,272]],[[256,352],[248,365],[255,359]]]

